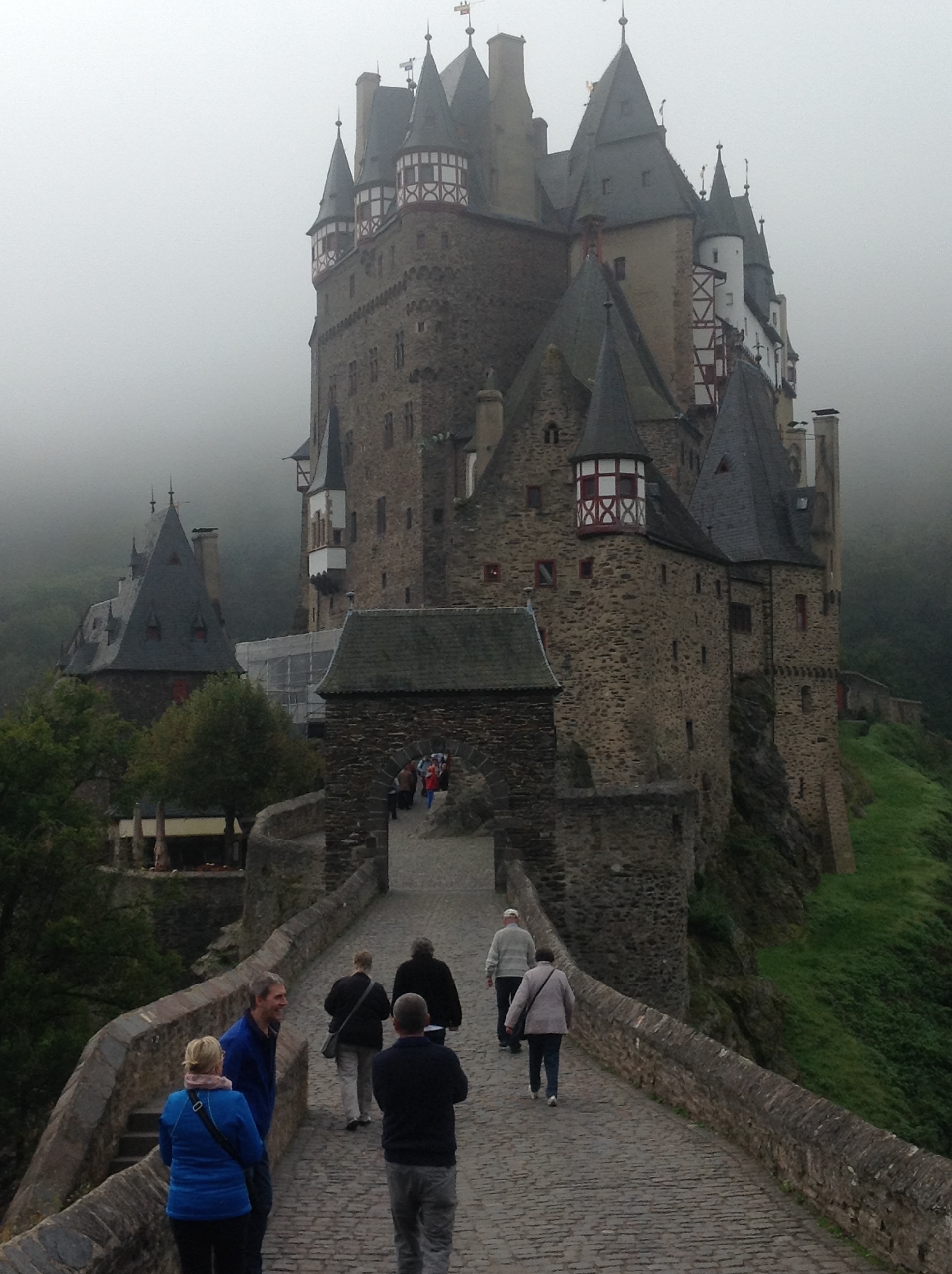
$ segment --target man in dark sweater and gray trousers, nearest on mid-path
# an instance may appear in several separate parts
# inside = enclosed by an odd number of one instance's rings
[[[394,1004],[396,1043],[373,1059],[396,1274],[446,1274],[456,1217],[456,1102],[468,1082],[452,1049],[431,1043],[426,1000]]]

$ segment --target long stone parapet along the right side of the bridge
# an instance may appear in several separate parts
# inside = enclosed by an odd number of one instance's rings
[[[757,1066],[575,964],[521,864],[510,897],[576,995],[572,1036],[617,1074],[729,1136],[892,1265],[952,1268],[952,1163]]]

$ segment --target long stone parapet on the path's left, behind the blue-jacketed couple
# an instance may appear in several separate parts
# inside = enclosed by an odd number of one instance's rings
[[[247,1006],[247,984],[263,971],[292,982],[347,929],[377,892],[372,864],[275,930],[236,968],[113,1018],[83,1050],[10,1204],[5,1224],[22,1229],[59,1212],[108,1171],[134,1110],[181,1083],[189,1040],[220,1036]]]

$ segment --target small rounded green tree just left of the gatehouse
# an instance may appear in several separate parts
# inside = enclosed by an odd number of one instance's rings
[[[130,790],[154,800],[224,810],[226,852],[234,822],[263,805],[311,791],[317,757],[292,730],[287,712],[246,678],[210,676],[172,705],[140,739]]]

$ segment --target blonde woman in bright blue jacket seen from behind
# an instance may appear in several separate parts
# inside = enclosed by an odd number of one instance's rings
[[[159,1153],[171,1168],[166,1213],[184,1274],[245,1274],[245,1170],[265,1149],[245,1096],[222,1074],[214,1036],[186,1045],[185,1088],[162,1111]]]

